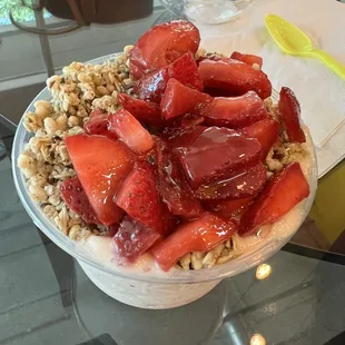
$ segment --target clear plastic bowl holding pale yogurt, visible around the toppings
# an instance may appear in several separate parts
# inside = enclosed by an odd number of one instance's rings
[[[89,62],[101,63],[115,56],[105,56]],[[51,99],[47,88],[37,95],[26,112],[33,111],[33,103],[40,99]],[[277,102],[276,91],[273,92],[272,99],[274,102]],[[22,118],[18,125],[13,141],[12,174],[18,195],[27,213],[39,229],[62,250],[78,260],[95,285],[109,296],[137,307],[161,309],[185,305],[208,293],[221,279],[237,275],[265,262],[279,250],[297,231],[308,215],[315,197],[317,167],[314,146],[310,136],[307,134],[307,139],[313,148],[310,151],[312,166],[309,169],[310,194],[307,199],[302,201],[303,211],[300,219],[296,228],[288,236],[269,238],[254,252],[243,254],[226,264],[216,265],[211,268],[188,272],[175,269],[169,273],[162,273],[158,269],[151,272],[125,270],[115,265],[105,265],[95,256],[92,257],[78,241],[71,240],[63,233],[59,231],[52,220],[43,214],[40,206],[32,200],[28,193],[24,176],[17,166],[18,157],[24,150],[24,146],[30,137],[31,135],[23,127]]]

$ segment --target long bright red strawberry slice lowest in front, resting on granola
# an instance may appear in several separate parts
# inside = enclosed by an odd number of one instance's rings
[[[150,250],[164,270],[169,270],[184,255],[190,252],[208,252],[230,238],[237,230],[231,220],[211,213],[204,213],[196,220],[180,225],[175,233]]]

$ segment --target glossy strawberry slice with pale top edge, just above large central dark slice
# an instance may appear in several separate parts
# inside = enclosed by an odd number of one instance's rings
[[[254,91],[238,97],[215,98],[200,115],[205,117],[206,125],[234,129],[268,117],[264,101]]]

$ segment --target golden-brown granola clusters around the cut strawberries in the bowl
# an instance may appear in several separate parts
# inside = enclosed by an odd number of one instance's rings
[[[23,126],[32,137],[18,158],[18,166],[27,179],[32,199],[71,239],[86,238],[91,234],[106,235],[106,228],[87,225],[63,203],[60,184],[76,175],[63,139],[83,132],[83,124],[89,120],[92,110],[116,111],[119,108],[118,93],[136,97],[128,68],[131,48],[125,47],[121,55],[101,65],[72,62],[65,67],[61,76],[47,80],[51,101],[39,100],[34,103],[34,111],[24,115]],[[213,53],[199,50],[197,56]],[[265,100],[265,106],[270,116],[278,119],[277,108],[270,99]],[[280,134],[280,140],[266,159],[267,175],[306,155],[305,144],[287,142],[285,132]],[[239,255],[236,238],[231,238],[208,253],[189,253],[176,266],[180,269],[200,269],[224,264]]]

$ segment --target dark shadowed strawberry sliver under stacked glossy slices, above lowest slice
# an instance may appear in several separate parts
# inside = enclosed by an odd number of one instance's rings
[[[231,218],[234,215],[244,211],[252,200],[253,197],[236,200],[208,200],[204,205],[223,218]]]

